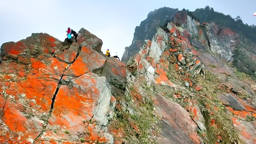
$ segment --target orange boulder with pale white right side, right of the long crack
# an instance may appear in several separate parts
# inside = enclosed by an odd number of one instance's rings
[[[112,135],[104,128],[108,123],[111,92],[106,78],[92,73],[72,77],[60,86],[54,102],[47,131],[36,143],[79,141],[111,143]]]

